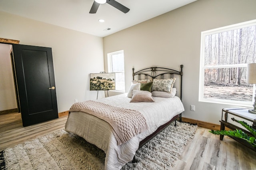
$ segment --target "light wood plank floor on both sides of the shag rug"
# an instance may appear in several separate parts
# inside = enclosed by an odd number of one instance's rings
[[[0,115],[0,150],[64,129],[66,119],[22,127],[20,113]],[[227,136],[220,141],[208,130],[198,127],[176,166],[169,170],[256,170],[256,152]]]

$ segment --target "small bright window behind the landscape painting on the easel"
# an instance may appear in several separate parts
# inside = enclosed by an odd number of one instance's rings
[[[125,91],[124,51],[108,53],[108,73],[116,73],[116,91]]]

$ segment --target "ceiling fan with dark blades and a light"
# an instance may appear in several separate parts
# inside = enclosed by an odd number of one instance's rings
[[[127,13],[130,9],[123,6],[122,4],[120,4],[119,2],[116,2],[115,0],[94,0],[93,4],[92,4],[92,8],[90,10],[90,14],[95,14],[100,6],[100,4],[105,4],[108,3],[111,6],[114,6],[116,9]]]

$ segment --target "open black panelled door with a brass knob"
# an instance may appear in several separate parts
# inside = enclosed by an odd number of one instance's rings
[[[23,126],[58,118],[52,49],[13,44]]]

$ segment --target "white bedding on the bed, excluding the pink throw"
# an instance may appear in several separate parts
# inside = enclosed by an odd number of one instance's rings
[[[98,117],[86,113],[71,112],[65,125],[66,131],[77,134],[104,150],[106,153],[105,170],[119,170],[133,159],[141,140],[184,111],[178,97],[153,97],[153,99],[155,101],[153,103],[130,103],[130,98],[126,97],[126,94],[122,94],[97,100],[108,105],[137,110],[146,119],[148,130],[119,146],[110,125]]]

